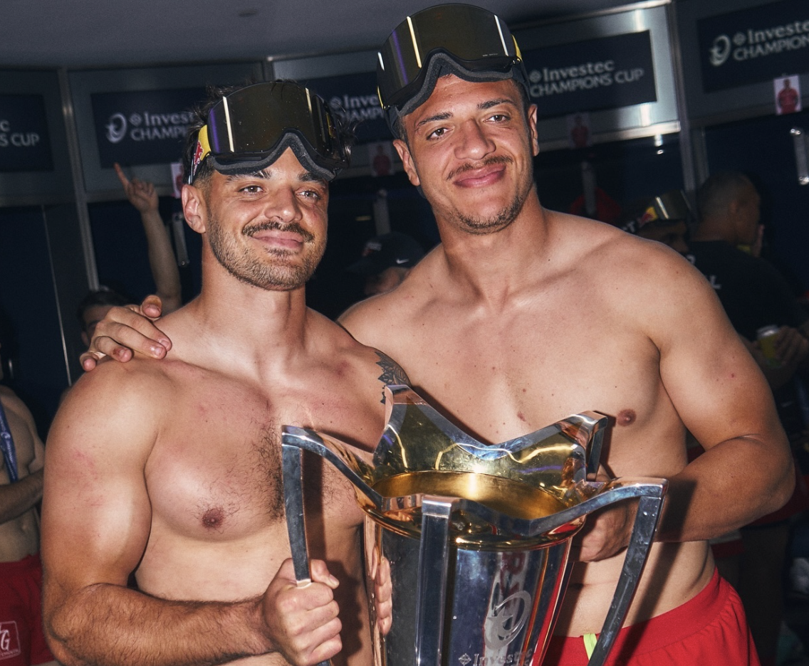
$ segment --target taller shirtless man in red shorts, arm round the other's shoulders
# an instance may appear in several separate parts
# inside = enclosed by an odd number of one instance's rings
[[[585,410],[609,415],[608,472],[670,481],[629,610],[636,626],[621,631],[615,653],[642,664],[757,664],[738,596],[714,576],[705,539],[781,506],[793,472],[766,382],[713,290],[660,243],[542,208],[536,107],[513,40],[489,12],[421,11],[380,57],[396,150],[442,244],[343,325],[400,360],[419,394],[481,440]],[[146,312],[155,306],[147,301]],[[155,357],[171,346],[146,319],[113,313],[100,335]],[[108,338],[95,345],[121,360],[132,353]],[[707,451],[690,464],[686,429]],[[587,664],[582,637],[604,622],[636,508],[588,519],[543,666]]]

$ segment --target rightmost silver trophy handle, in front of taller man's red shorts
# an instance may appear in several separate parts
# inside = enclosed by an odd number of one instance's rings
[[[664,492],[665,486],[663,485],[659,493],[642,495],[638,500],[632,537],[629,539],[629,547],[624,557],[624,568],[621,570],[607,618],[604,620],[604,626],[587,666],[603,666],[612,649],[612,644],[615,643],[618,631],[624,624],[629,604],[632,603],[637,589],[637,581],[641,578],[646,558],[649,556],[654,530],[657,529],[660,509],[663,507]],[[625,497],[626,495],[619,495],[616,501],[623,500]]]

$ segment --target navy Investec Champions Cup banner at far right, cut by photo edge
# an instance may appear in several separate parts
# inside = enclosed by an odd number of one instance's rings
[[[809,2],[783,0],[697,21],[702,89],[809,72]]]

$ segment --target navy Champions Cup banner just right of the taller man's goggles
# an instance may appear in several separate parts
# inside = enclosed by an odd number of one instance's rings
[[[656,102],[649,31],[523,52],[540,118]]]

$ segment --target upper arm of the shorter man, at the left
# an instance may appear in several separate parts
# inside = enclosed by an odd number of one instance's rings
[[[93,393],[66,400],[46,449],[42,556],[51,580],[65,589],[126,584],[150,529],[150,432],[133,423],[131,405],[104,407]]]

